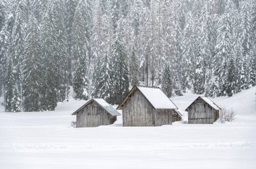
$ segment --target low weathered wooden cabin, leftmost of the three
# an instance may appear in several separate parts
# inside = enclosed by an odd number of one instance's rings
[[[121,114],[104,99],[90,99],[72,115],[76,115],[76,127],[98,127],[113,124]]]

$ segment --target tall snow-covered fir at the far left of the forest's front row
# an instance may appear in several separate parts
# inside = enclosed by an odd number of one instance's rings
[[[7,46],[3,52],[5,62],[4,88],[5,88],[5,111],[18,112],[21,110],[21,64],[23,56],[24,24],[22,21],[22,3],[13,1],[9,24],[5,27],[7,37],[3,38]],[[15,15],[14,15],[15,14]],[[7,20],[8,21],[8,20]]]

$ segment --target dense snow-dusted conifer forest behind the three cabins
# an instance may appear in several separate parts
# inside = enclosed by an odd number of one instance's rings
[[[255,0],[2,0],[5,111],[54,110],[129,87],[231,97],[256,85]]]

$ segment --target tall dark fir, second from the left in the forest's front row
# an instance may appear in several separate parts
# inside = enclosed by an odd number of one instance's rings
[[[24,111],[40,111],[43,68],[38,22],[35,17],[30,17],[26,32],[22,63]]]

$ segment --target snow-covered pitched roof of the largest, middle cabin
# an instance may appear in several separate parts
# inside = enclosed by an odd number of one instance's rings
[[[160,88],[156,87],[137,87],[134,86],[128,95],[123,99],[118,110],[123,109],[125,102],[131,97],[131,95],[138,89],[144,97],[150,102],[155,109],[178,109],[174,103],[162,92]]]

